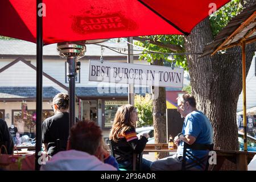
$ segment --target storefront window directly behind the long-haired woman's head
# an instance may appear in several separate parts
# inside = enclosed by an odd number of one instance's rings
[[[105,127],[110,128],[113,125],[115,113],[118,107],[128,104],[127,101],[105,101]]]

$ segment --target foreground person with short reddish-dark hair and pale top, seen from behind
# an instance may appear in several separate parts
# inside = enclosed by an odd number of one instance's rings
[[[79,121],[71,128],[67,151],[60,151],[41,171],[116,171],[117,169],[99,160],[96,155],[101,150],[102,131],[95,122]]]

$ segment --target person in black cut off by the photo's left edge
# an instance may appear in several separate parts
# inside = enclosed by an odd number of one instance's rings
[[[4,145],[7,149],[8,154],[13,154],[13,139],[11,139],[11,135],[7,126],[6,121],[0,119],[0,147]],[[5,154],[5,150],[2,147],[2,154]]]

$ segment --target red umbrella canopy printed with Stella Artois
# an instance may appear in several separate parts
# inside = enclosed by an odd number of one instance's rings
[[[43,0],[43,43],[188,35],[230,0]],[[36,1],[1,0],[0,35],[36,42]],[[41,6],[40,6],[41,7]]]

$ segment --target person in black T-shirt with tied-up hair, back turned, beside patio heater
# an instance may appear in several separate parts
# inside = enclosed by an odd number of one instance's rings
[[[68,94],[58,93],[53,98],[52,109],[55,115],[43,121],[42,142],[48,155],[55,155],[61,150],[66,150],[69,135],[69,97]],[[61,140],[57,148],[57,139]]]

